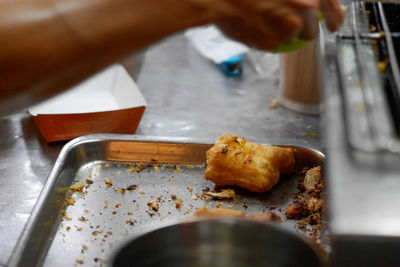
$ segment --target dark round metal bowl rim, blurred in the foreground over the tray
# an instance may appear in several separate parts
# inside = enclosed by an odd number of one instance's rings
[[[144,234],[117,251],[122,266],[321,266],[305,239],[280,226],[248,220],[201,220]]]

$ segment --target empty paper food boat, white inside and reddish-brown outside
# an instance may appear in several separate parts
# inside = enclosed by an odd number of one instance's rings
[[[146,101],[121,65],[29,109],[47,142],[92,133],[133,134]]]

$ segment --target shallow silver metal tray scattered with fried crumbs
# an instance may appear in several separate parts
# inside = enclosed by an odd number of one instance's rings
[[[99,134],[69,142],[48,177],[9,266],[104,266],[123,241],[188,218],[203,206],[221,204],[247,214],[276,207],[274,211],[284,219],[285,207],[298,192],[296,175],[281,177],[273,190],[262,194],[236,190],[235,200],[202,196],[204,189],[214,188],[203,178],[205,152],[214,141]],[[321,165],[324,159],[317,150],[296,147],[297,168]],[[136,172],[135,162],[150,164]],[[152,167],[154,162],[160,163],[159,167]],[[106,177],[112,186],[106,186]],[[87,185],[86,179],[93,184],[84,193],[69,190],[77,181]],[[120,188],[131,185],[136,189],[121,192]],[[183,200],[180,209],[171,195]],[[74,205],[65,206],[71,196]],[[147,204],[156,198],[157,212]],[[66,217],[61,215],[63,210]],[[283,225],[293,228],[295,223],[284,220]]]

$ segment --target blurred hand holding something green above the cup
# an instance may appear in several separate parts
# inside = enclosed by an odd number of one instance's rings
[[[322,0],[327,26],[336,30],[343,21],[337,0]],[[217,25],[228,36],[250,46],[272,50],[294,39],[318,35],[319,0],[222,0]]]

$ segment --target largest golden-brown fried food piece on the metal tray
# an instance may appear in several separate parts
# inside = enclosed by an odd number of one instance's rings
[[[223,135],[207,153],[204,177],[217,186],[237,185],[252,192],[270,190],[281,173],[295,167],[293,148],[262,146],[236,135]]]

